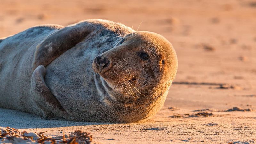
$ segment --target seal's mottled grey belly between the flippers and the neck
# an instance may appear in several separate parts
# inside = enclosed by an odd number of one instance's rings
[[[97,113],[95,106],[104,109],[95,86],[92,62],[96,56],[111,49],[111,44],[85,41],[57,57],[46,67],[46,85],[73,117],[86,119]],[[99,45],[101,46],[98,47]]]

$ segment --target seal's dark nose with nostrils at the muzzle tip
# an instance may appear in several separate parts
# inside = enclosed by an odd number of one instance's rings
[[[100,55],[95,58],[95,64],[99,72],[107,72],[112,66],[111,61]]]

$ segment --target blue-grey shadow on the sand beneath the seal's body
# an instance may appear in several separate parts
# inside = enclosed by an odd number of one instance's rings
[[[0,108],[0,127],[27,128],[54,128],[67,126],[106,125],[112,123],[73,122],[64,119],[44,119],[34,114]]]

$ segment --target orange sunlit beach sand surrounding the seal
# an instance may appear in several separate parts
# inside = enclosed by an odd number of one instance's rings
[[[146,122],[48,120],[0,108],[0,126],[47,131],[52,137],[83,130],[100,143],[255,143],[255,15],[252,0],[1,0],[0,37],[34,25],[66,26],[84,19],[108,19],[135,30],[142,22],[139,30],[159,33],[172,43],[179,67],[164,107]],[[225,112],[233,107],[244,111]],[[195,111],[201,109],[208,111]]]

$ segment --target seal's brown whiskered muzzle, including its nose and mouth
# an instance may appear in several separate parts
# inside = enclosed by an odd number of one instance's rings
[[[136,98],[140,93],[140,81],[143,78],[140,78],[140,71],[135,70],[136,66],[133,65],[133,62],[118,59],[116,55],[103,53],[94,58],[92,68],[101,76],[101,80],[106,82],[103,84],[105,88],[107,84],[115,92]]]

